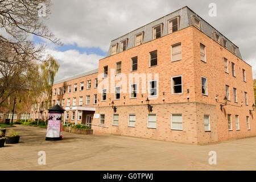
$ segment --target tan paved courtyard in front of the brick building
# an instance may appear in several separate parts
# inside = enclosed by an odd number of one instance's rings
[[[13,128],[19,144],[0,148],[0,170],[255,170],[256,137],[205,146],[63,132],[63,140],[46,141],[46,129]],[[8,132],[9,129],[7,129]],[[38,152],[46,152],[46,165]],[[217,164],[208,155],[216,151]]]

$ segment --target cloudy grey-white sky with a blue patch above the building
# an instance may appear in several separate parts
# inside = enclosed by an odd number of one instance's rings
[[[208,14],[209,3],[216,3],[216,17]],[[256,78],[255,0],[54,0],[46,24],[64,43],[61,47],[47,46],[60,63],[55,80],[96,69],[98,60],[106,56],[110,40],[184,6],[240,47],[243,60],[253,66]]]

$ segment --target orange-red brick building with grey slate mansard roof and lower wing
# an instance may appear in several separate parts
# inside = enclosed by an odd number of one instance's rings
[[[251,66],[188,7],[112,40],[98,70],[53,85],[52,102],[96,134],[193,144],[256,135]]]

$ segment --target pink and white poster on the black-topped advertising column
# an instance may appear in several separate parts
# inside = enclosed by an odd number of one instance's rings
[[[59,138],[61,125],[61,113],[48,113],[48,125],[46,137]]]

